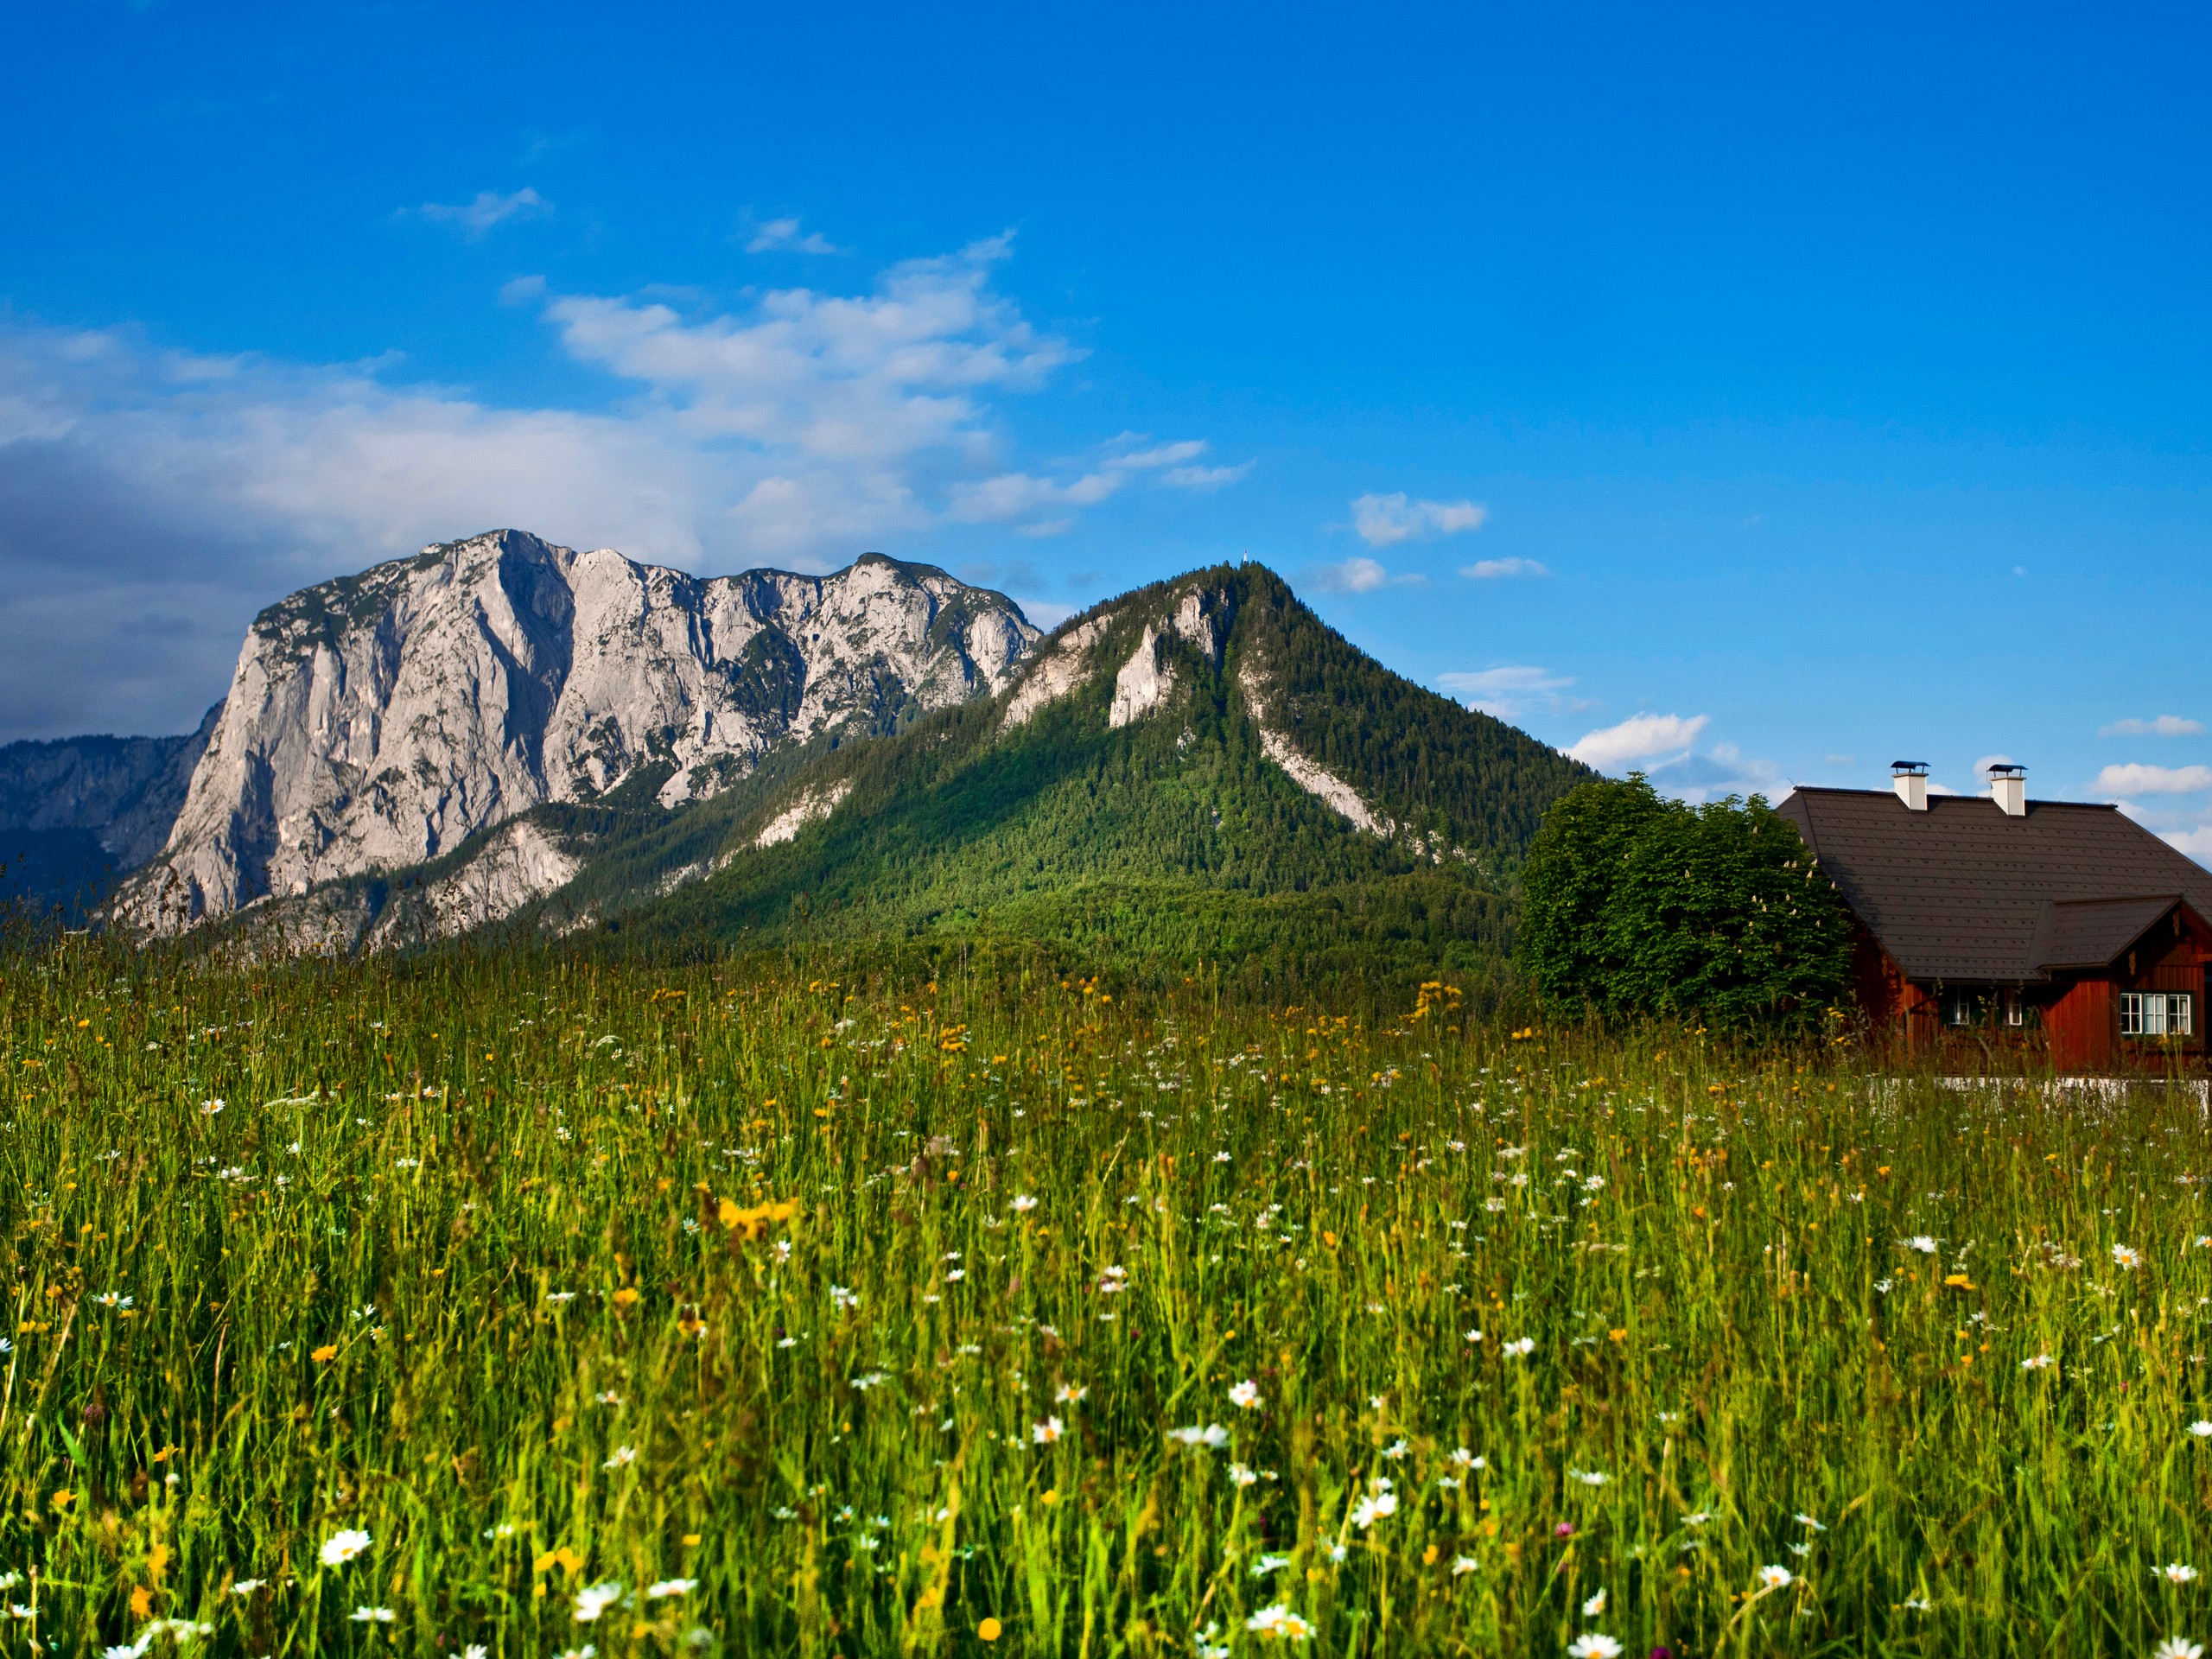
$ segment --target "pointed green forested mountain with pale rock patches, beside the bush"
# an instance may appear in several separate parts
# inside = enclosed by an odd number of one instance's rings
[[[796,745],[712,799],[533,807],[254,911],[299,949],[502,922],[719,947],[1013,938],[1077,960],[1500,962],[1551,801],[1593,776],[1391,675],[1256,564],[1071,619],[1002,690]]]

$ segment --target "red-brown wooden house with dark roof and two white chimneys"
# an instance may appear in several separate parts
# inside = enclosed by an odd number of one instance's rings
[[[2022,768],[1984,796],[1891,770],[1893,790],[1776,807],[1851,909],[1876,1031],[2017,1044],[2059,1071],[2203,1071],[2212,869],[2117,807],[2028,801]]]

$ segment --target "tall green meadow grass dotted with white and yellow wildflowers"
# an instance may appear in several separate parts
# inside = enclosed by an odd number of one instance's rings
[[[0,1644],[2212,1635],[2188,1095],[834,980],[11,960]]]

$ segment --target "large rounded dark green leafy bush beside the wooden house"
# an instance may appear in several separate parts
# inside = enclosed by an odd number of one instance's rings
[[[1798,1024],[1843,993],[1849,918],[1765,801],[1690,807],[1637,774],[1544,816],[1517,956],[1555,1009]]]

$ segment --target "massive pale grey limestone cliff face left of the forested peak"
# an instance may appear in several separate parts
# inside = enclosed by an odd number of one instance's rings
[[[173,933],[639,768],[679,805],[774,748],[989,697],[1035,639],[1011,599],[874,553],[699,580],[522,531],[429,546],[254,619],[168,843],[115,911]]]

